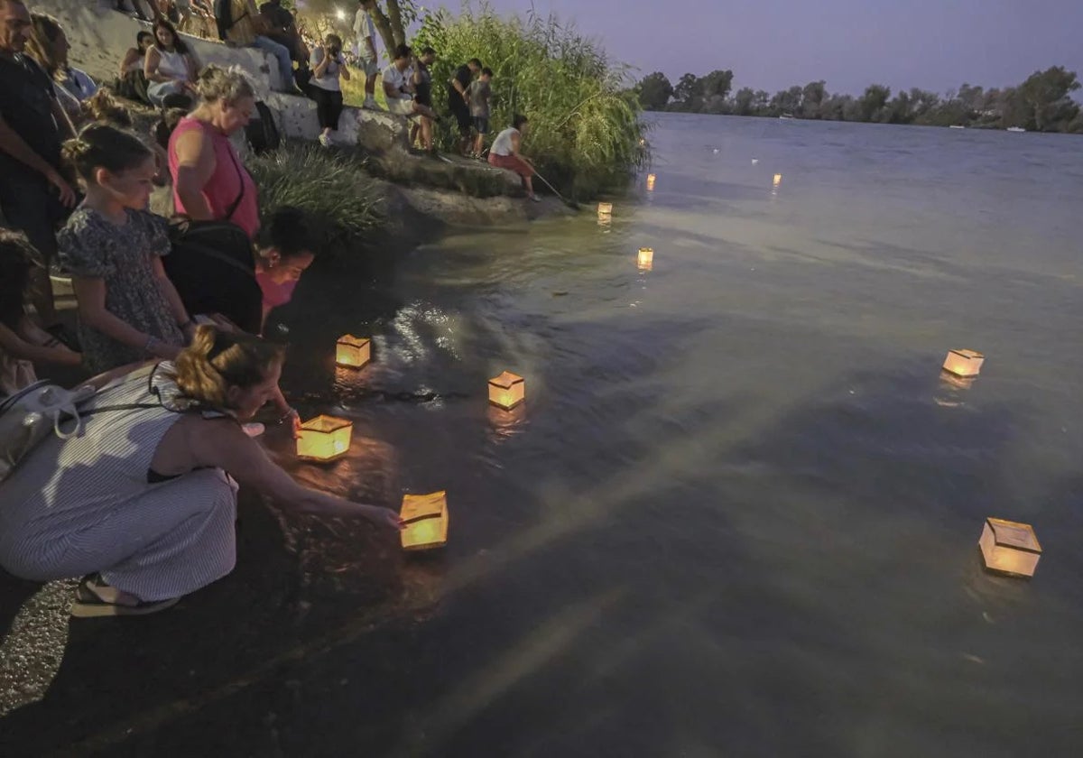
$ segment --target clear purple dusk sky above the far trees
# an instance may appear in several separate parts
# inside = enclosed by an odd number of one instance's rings
[[[454,1],[445,0],[449,8]],[[1083,76],[1083,0],[490,0],[554,12],[617,60],[660,70],[731,68],[734,89],[826,79],[832,92],[1003,87],[1053,65]]]

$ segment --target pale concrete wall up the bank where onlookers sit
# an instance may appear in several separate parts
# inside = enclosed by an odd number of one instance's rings
[[[113,9],[113,0],[27,0],[31,12],[49,13],[61,22],[71,44],[71,64],[97,81],[108,83],[117,76],[125,51],[135,44],[135,35],[149,29],[146,22]],[[240,66],[256,84],[257,94],[275,113],[278,131],[299,140],[319,134],[316,105],[308,97],[272,91],[280,89],[274,58],[252,48],[230,48],[221,42],[182,35],[200,66],[214,63]],[[339,122],[338,141],[382,152],[407,145],[406,119],[387,113],[345,108]]]

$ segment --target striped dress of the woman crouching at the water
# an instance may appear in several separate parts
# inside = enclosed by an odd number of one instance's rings
[[[147,481],[158,443],[182,417],[158,403],[177,395],[171,369],[130,374],[83,406],[155,407],[88,416],[80,435],[50,435],[0,483],[0,566],[42,581],[101,572],[144,601],[233,570],[236,483],[221,469]]]

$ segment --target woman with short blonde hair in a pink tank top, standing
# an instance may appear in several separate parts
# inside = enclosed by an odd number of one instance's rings
[[[256,183],[230,135],[248,123],[256,93],[244,74],[218,66],[208,66],[196,87],[199,106],[169,139],[174,207],[194,221],[232,221],[255,238],[260,228]]]

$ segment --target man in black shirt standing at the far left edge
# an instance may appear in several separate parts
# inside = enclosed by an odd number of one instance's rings
[[[0,0],[0,211],[45,259],[35,274],[38,317],[57,336],[48,263],[56,256],[56,226],[76,204],[61,174],[61,144],[71,122],[41,68],[23,54],[30,13],[22,0]],[[63,339],[63,338],[62,338]]]

